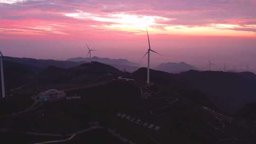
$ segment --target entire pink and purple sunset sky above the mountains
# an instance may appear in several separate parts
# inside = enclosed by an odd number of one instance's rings
[[[15,57],[65,60],[92,55],[157,63],[207,59],[256,69],[256,0],[0,0],[0,50]],[[142,64],[144,64],[143,62]]]

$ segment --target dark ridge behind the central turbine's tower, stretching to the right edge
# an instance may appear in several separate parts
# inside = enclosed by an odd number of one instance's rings
[[[146,81],[146,68],[132,73]],[[252,72],[194,71],[171,74],[150,70],[150,81],[169,89],[180,90],[188,99],[211,103],[221,112],[235,114],[251,102],[256,102],[256,75]],[[200,100],[201,99],[201,100]]]

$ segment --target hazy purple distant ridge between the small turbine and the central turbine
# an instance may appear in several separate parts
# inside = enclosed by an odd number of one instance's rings
[[[89,58],[77,57],[77,58],[67,59],[67,61],[89,62]],[[124,69],[126,69],[127,72],[134,72],[140,66],[139,64],[129,62],[126,59],[110,59],[110,58],[100,58],[100,57],[94,56],[91,58],[91,61],[109,64],[109,65],[119,69],[120,71],[123,71]]]

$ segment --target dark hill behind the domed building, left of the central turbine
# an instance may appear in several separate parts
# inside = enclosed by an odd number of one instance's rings
[[[44,69],[10,61],[4,61],[3,65],[5,85],[8,91],[21,86],[105,81],[122,75],[118,69],[98,62],[84,63],[68,69],[52,65]]]

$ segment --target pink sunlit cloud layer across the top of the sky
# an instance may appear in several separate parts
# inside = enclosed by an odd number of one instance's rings
[[[255,7],[255,0],[0,0],[0,28],[72,35],[84,27],[135,33],[151,27],[155,34],[207,27],[250,35],[255,28],[245,25],[256,24]]]

